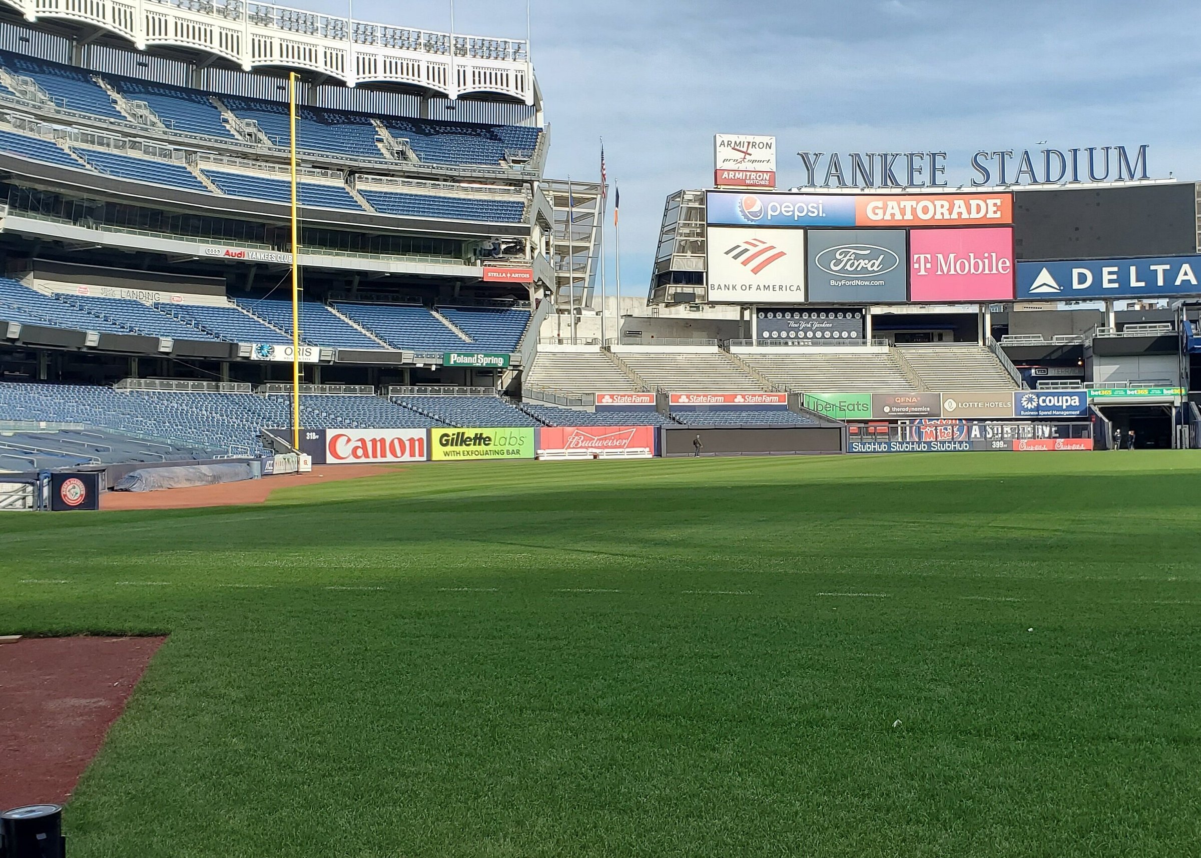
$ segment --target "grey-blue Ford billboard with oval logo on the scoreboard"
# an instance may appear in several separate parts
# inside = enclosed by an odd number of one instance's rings
[[[906,300],[904,230],[809,230],[808,302],[811,304]]]

